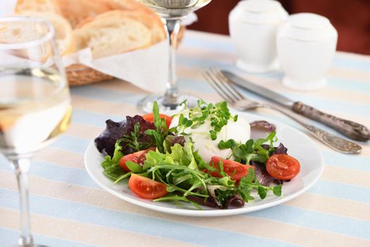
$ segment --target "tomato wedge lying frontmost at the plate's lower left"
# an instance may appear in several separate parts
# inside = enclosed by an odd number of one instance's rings
[[[131,174],[128,187],[133,193],[145,199],[161,198],[167,193],[166,184],[137,174]]]

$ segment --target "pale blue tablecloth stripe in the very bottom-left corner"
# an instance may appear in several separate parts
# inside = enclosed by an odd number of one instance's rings
[[[56,226],[58,227],[58,226]],[[0,228],[0,246],[16,246],[18,243],[19,232],[12,229]],[[33,234],[35,243],[43,244],[46,246],[53,247],[92,247],[92,245],[77,242],[68,241],[65,239],[57,239],[49,236],[43,236],[39,234]]]

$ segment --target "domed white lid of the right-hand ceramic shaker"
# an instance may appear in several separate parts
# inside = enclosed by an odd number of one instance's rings
[[[278,35],[297,41],[320,41],[337,37],[338,33],[328,18],[315,13],[297,13],[280,25]]]

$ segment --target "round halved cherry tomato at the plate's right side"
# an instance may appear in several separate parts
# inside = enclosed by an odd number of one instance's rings
[[[300,162],[289,155],[272,155],[266,162],[266,169],[276,179],[292,179],[300,172]]]

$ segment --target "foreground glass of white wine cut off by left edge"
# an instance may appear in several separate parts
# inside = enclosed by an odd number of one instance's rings
[[[27,173],[30,158],[67,130],[72,108],[54,28],[39,18],[0,18],[0,154],[16,172],[18,246],[34,247]]]

